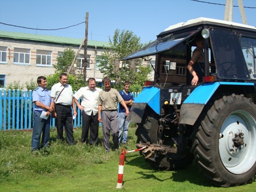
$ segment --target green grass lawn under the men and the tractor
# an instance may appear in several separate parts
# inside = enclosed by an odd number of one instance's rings
[[[212,186],[195,165],[156,170],[138,151],[126,154],[123,188],[117,189],[120,151],[135,149],[135,128],[129,129],[129,145],[110,153],[105,153],[99,130],[98,146],[79,142],[81,129],[74,130],[74,146],[57,141],[57,131],[51,130],[49,149],[35,153],[30,151],[31,131],[0,131],[0,191],[256,191],[255,182]]]

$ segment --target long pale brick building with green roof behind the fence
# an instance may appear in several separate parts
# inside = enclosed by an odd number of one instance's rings
[[[81,43],[82,39],[0,31],[0,85],[5,87],[14,81],[23,84],[31,79],[36,81],[41,75],[54,74],[53,64],[57,63],[58,55],[67,47],[77,53]],[[87,78],[101,81],[96,58],[102,55],[103,47],[108,46],[107,42],[88,40]],[[77,65],[84,61],[83,51],[82,48],[79,52]]]

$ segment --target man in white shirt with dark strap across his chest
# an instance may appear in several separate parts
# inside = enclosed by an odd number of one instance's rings
[[[55,100],[56,107],[56,123],[57,123],[57,134],[58,139],[64,140],[63,138],[63,126],[65,127],[66,140],[69,145],[74,145],[73,136],[73,115],[77,116],[75,110],[73,90],[72,87],[67,84],[67,74],[62,73],[59,75],[59,83],[51,87],[51,97]],[[57,101],[56,101],[57,100]]]

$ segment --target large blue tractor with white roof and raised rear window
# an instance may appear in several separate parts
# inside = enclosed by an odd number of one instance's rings
[[[203,37],[197,85],[187,70]],[[256,173],[256,27],[197,18],[170,26],[123,59],[155,58],[154,81],[135,99],[127,119],[138,125],[137,147],[164,170],[196,162],[211,183],[229,187]],[[198,73],[198,72],[197,72]]]

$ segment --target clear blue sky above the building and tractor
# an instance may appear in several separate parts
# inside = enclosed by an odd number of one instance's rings
[[[54,35],[83,39],[86,12],[88,40],[109,42],[114,31],[130,30],[141,43],[154,41],[170,25],[199,17],[224,19],[226,0],[9,0],[0,6],[0,31]],[[234,0],[234,6],[238,6]],[[256,1],[243,0],[248,25],[256,26]],[[242,23],[238,7],[233,8],[233,22]],[[4,25],[21,26],[14,27]],[[77,25],[77,26],[73,26]],[[69,27],[73,26],[73,27]],[[59,29],[61,30],[31,30]]]

